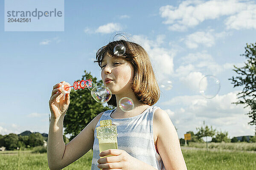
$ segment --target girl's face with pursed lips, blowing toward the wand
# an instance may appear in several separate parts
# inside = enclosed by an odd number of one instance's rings
[[[130,62],[121,57],[109,57],[105,55],[102,60],[102,81],[112,94],[126,92],[131,89],[130,82],[134,77],[134,68]],[[108,81],[108,79],[111,79]]]

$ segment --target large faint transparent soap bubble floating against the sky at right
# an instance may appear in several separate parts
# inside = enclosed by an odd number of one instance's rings
[[[217,77],[204,76],[199,82],[199,93],[207,99],[212,99],[220,91],[221,83]]]

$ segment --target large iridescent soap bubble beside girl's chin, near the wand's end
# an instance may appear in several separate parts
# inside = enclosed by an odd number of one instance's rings
[[[112,93],[105,86],[96,86],[91,90],[91,95],[98,103],[106,103],[111,99]]]

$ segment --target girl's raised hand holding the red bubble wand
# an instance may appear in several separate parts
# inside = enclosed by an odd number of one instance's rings
[[[65,115],[70,104],[70,94],[65,94],[64,97],[64,94],[61,93],[61,90],[59,89],[62,83],[64,83],[64,81],[53,86],[52,96],[49,100],[49,107],[52,113],[51,119],[58,119],[61,115]]]

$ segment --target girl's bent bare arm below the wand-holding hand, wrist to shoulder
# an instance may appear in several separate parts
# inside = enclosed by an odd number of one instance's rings
[[[94,142],[94,127],[102,113],[98,114],[84,129],[67,145],[63,141],[63,120],[51,119],[47,143],[47,157],[50,170],[60,170],[73,163],[92,147]]]

